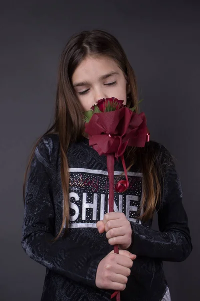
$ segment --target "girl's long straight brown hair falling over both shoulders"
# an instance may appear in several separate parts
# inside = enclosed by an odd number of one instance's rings
[[[138,104],[135,74],[117,39],[103,30],[82,31],[71,36],[60,57],[54,121],[50,128],[37,140],[32,149],[23,183],[23,198],[25,202],[25,181],[35,148],[44,135],[52,132],[57,133],[60,144],[60,172],[64,206],[62,225],[54,240],[61,235],[64,225],[64,235],[66,235],[68,226],[69,172],[66,158],[67,148],[69,143],[76,141],[84,131],[82,108],[72,87],[71,78],[77,66],[89,55],[106,56],[113,59],[123,71],[130,86],[126,106],[132,107]],[[135,112],[139,113],[138,106]],[[126,163],[128,162],[129,164],[127,170],[137,162],[143,174],[141,208],[144,208],[144,211],[139,217],[143,220],[152,217],[161,191],[160,179],[155,166],[157,154],[149,149],[148,144],[147,142],[145,147],[142,148],[127,147],[124,154]]]

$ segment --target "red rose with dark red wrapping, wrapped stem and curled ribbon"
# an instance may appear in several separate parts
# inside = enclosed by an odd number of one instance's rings
[[[91,145],[99,155],[106,155],[107,172],[109,179],[109,212],[114,211],[114,158],[121,158],[125,180],[115,185],[117,193],[124,192],[128,186],[128,177],[123,153],[126,145],[143,147],[147,137],[146,117],[144,113],[136,114],[126,108],[122,100],[114,97],[100,99],[91,109],[94,112],[88,114],[85,122],[85,132],[89,135]],[[95,107],[101,111],[97,113]],[[149,138],[149,135],[148,135]],[[118,245],[114,245],[114,252],[118,253]],[[116,300],[120,300],[120,292],[115,291]]]

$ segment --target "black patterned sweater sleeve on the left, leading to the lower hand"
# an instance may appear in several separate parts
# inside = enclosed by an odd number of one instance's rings
[[[26,182],[22,248],[30,258],[53,272],[96,288],[96,269],[106,254],[79,245],[69,237],[51,242],[55,236],[52,168],[49,147],[42,141],[35,149]]]

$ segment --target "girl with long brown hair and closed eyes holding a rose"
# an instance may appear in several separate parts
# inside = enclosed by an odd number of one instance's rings
[[[160,143],[126,148],[129,188],[114,193],[115,212],[106,213],[106,158],[89,146],[82,113],[113,96],[127,107],[138,101],[119,42],[101,30],[73,35],[60,59],[54,123],[32,151],[24,187],[21,243],[46,267],[42,301],[108,301],[115,290],[121,301],[168,301],[162,260],[191,252],[180,181]],[[115,161],[115,182],[122,172]]]

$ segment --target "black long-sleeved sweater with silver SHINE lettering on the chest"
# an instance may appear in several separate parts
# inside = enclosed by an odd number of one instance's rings
[[[162,260],[182,261],[192,249],[187,216],[182,206],[182,191],[168,150],[155,141],[150,146],[159,152],[164,171],[159,231],[152,220],[137,219],[142,194],[142,174],[133,166],[128,172],[129,188],[114,193],[114,211],[123,212],[132,227],[130,251],[137,257],[121,301],[159,301],[166,290]],[[99,234],[96,222],[108,212],[106,157],[99,156],[88,139],[71,143],[69,164],[69,232],[53,244],[59,232],[63,198],[60,180],[59,138],[46,135],[37,146],[26,183],[22,247],[33,260],[46,267],[41,301],[108,301],[111,290],[95,285],[98,263],[113,247],[105,233]],[[115,161],[114,180],[123,171]],[[124,176],[123,176],[124,177]],[[158,208],[157,208],[158,209]]]

